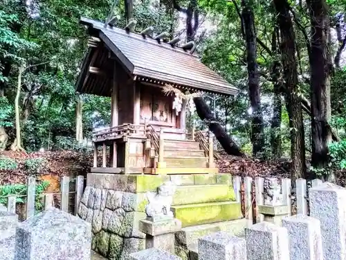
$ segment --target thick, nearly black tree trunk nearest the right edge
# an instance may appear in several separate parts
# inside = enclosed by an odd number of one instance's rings
[[[307,1],[311,20],[311,165],[327,169],[328,144],[331,141],[329,119],[331,54],[329,51],[329,19],[325,0]],[[325,176],[327,177],[327,176]],[[335,181],[333,175],[329,181]]]

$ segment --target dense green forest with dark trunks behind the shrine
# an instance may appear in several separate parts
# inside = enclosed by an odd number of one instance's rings
[[[112,3],[0,1],[0,172],[18,167],[8,150],[36,169],[30,153],[42,148],[88,154],[93,130],[109,125],[109,98],[75,93],[75,81],[87,48],[79,19],[104,21]],[[239,89],[204,98],[243,157],[284,158],[293,179],[343,175],[345,0],[120,0],[114,11],[121,28],[136,19],[136,31],[199,42],[202,62]]]

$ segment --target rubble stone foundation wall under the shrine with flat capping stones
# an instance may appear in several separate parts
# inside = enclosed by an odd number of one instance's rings
[[[92,249],[111,260],[127,260],[145,249],[144,219],[147,191],[163,182],[180,185],[230,184],[230,175],[124,175],[89,173],[78,215],[92,225]]]

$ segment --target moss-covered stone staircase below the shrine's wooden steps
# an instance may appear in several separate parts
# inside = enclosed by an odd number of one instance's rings
[[[241,205],[235,202],[228,174],[171,175],[178,186],[172,211],[183,229],[176,233],[176,254],[182,259],[198,259],[197,243],[212,232],[231,232],[244,236],[246,220]]]

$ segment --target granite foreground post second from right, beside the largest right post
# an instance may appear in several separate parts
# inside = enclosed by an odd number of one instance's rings
[[[291,260],[323,260],[320,220],[298,214],[282,220],[289,234]]]

